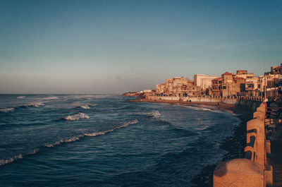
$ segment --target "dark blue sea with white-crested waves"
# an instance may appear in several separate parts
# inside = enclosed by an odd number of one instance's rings
[[[130,99],[0,95],[0,186],[195,186],[240,123],[201,105]]]

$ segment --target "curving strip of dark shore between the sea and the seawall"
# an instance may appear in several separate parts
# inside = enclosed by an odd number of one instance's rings
[[[221,144],[221,149],[226,150],[228,153],[221,159],[221,162],[242,158],[245,156],[244,149],[245,149],[245,140],[246,140],[246,128],[247,128],[247,121],[252,119],[252,113],[254,112],[253,109],[247,106],[242,105],[235,105],[235,104],[223,104],[220,103],[219,107],[215,102],[183,102],[183,101],[164,101],[164,100],[149,100],[149,99],[142,99],[142,100],[130,100],[128,102],[154,102],[154,103],[171,103],[171,104],[183,104],[183,105],[195,105],[198,107],[209,107],[211,109],[219,109],[221,111],[231,112],[235,114],[239,119],[240,123],[238,126],[235,126],[233,129],[233,133],[229,138],[223,140]],[[195,187],[202,187],[202,186],[213,186],[213,174],[216,164],[208,165],[204,167],[200,174],[197,174],[194,179],[192,179],[192,183]]]

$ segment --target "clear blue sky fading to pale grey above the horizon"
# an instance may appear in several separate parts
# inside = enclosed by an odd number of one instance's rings
[[[0,93],[110,94],[282,63],[282,1],[0,0]]]

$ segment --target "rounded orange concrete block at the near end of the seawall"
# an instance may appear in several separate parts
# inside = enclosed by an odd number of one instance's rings
[[[249,159],[220,162],[214,170],[215,187],[263,187],[264,169]]]

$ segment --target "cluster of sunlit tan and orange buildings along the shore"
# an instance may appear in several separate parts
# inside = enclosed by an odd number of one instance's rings
[[[219,76],[196,74],[194,80],[175,77],[156,85],[156,90],[144,90],[145,95],[190,97],[209,95],[212,97],[274,97],[281,92],[282,64],[272,66],[264,76],[255,76],[247,70],[236,73],[226,71]]]

